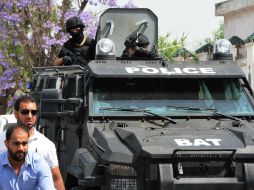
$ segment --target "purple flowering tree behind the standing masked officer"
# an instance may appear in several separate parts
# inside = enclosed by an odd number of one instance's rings
[[[80,16],[86,34],[94,37],[97,16],[108,7],[120,6],[117,0],[1,0],[0,114],[6,113],[16,96],[27,92],[32,67],[53,64],[69,37],[66,19]],[[123,7],[135,6],[129,1]]]

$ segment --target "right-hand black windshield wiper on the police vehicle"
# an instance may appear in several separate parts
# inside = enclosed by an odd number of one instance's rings
[[[214,109],[214,108],[198,108],[198,107],[187,107],[187,106],[186,107],[185,106],[166,106],[166,107],[167,108],[174,108],[174,109],[181,109],[181,110],[191,110],[191,111],[200,111],[200,112],[204,111],[204,112],[211,113],[214,116],[222,116],[222,117],[232,119],[234,121],[241,122],[240,119],[230,116],[230,115],[227,115],[227,114],[224,114],[224,113],[219,113],[218,110]]]

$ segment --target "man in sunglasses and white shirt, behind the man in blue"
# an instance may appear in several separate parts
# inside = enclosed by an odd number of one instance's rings
[[[21,96],[14,104],[14,115],[17,123],[29,130],[29,152],[36,152],[45,158],[51,169],[55,188],[57,190],[65,189],[54,143],[34,128],[37,121],[36,101],[29,96]],[[5,134],[5,132],[3,133]],[[3,134],[1,134],[0,141],[4,140]],[[1,143],[0,151],[3,150]]]

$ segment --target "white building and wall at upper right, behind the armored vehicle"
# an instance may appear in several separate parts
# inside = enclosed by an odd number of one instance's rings
[[[228,0],[217,3],[216,16],[224,16],[224,35],[229,39],[238,36],[245,40],[254,33],[254,0]],[[236,48],[233,49],[236,58]],[[240,48],[241,57],[235,59],[244,71],[254,89],[254,43],[246,43]]]

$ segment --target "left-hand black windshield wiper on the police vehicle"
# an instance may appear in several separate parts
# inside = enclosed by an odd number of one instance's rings
[[[148,109],[135,109],[135,108],[118,108],[118,107],[111,107],[111,108],[107,108],[107,107],[101,107],[100,110],[108,110],[108,111],[127,111],[127,112],[141,112],[141,113],[145,113],[148,115],[152,115],[152,116],[156,116],[162,119],[165,119],[173,124],[176,124],[177,122],[173,119],[171,119],[170,117],[165,117],[153,112],[150,112],[150,110]]]

